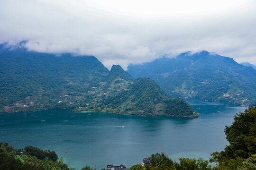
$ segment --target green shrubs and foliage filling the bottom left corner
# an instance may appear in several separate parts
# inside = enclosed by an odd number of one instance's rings
[[[7,143],[0,143],[0,170],[72,170],[62,158],[60,161],[57,158],[54,151],[43,151],[33,146],[17,151]]]

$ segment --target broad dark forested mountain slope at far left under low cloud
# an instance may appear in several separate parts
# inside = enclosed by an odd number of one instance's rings
[[[108,75],[93,56],[53,55],[0,46],[0,112],[61,108],[65,98],[81,100],[84,92],[101,85]],[[66,97],[62,97],[68,95]],[[19,103],[19,105],[13,105]]]

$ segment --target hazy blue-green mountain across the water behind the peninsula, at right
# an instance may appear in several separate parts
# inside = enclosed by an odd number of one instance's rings
[[[135,78],[152,78],[175,98],[199,97],[239,105],[256,102],[256,70],[207,51],[129,65],[128,72]]]

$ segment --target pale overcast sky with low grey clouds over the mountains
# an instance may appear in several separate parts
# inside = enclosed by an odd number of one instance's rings
[[[256,0],[0,0],[0,42],[126,68],[186,51],[256,65]]]

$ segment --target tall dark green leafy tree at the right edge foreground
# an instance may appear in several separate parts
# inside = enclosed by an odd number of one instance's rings
[[[225,134],[229,145],[224,151],[211,154],[210,162],[218,164],[216,170],[234,170],[256,154],[256,105],[236,113],[232,125],[226,126]]]

